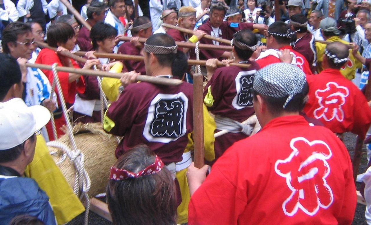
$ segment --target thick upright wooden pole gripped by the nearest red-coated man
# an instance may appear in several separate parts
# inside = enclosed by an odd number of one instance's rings
[[[203,76],[193,75],[193,140],[194,166],[202,168],[205,165],[204,147],[204,106],[203,106]]]

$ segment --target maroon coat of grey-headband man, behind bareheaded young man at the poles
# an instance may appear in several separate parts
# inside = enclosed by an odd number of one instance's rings
[[[128,54],[128,55],[134,55],[134,56],[140,56],[140,49],[135,47],[134,44],[131,42],[124,42],[120,45],[118,48],[118,53],[121,54]],[[125,68],[127,71],[133,71],[137,73],[141,73],[142,75],[145,75],[145,66],[144,66],[144,61],[136,61],[136,60],[123,60],[122,61],[125,65]]]

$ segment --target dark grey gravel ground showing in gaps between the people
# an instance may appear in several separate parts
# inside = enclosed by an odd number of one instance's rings
[[[352,133],[346,133],[344,135],[344,143],[347,146],[351,159],[353,157],[355,140],[356,140],[356,136],[353,135]],[[365,145],[364,145],[363,150],[364,150],[364,154],[362,155],[361,165],[359,166],[359,173],[365,172],[367,168]],[[360,186],[359,183],[357,183],[357,190],[359,190],[359,186]],[[84,218],[84,214],[81,214],[75,219],[73,219],[71,222],[69,222],[68,225],[81,225],[83,224],[83,218]],[[112,223],[96,215],[95,213],[90,212],[89,213],[89,225],[112,225]],[[353,220],[352,225],[367,225],[366,220],[365,220],[365,205],[357,204],[357,209],[354,215],[354,220]]]

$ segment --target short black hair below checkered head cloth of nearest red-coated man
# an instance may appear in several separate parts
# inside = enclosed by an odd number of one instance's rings
[[[269,112],[275,116],[280,115],[282,112],[300,112],[304,108],[305,97],[308,95],[308,92],[309,86],[308,83],[305,82],[302,92],[294,95],[292,99],[287,103],[286,107],[283,108],[283,105],[285,104],[288,96],[275,98],[262,95],[256,90],[252,89],[254,99],[256,100],[257,99],[256,96],[260,95],[267,103]]]

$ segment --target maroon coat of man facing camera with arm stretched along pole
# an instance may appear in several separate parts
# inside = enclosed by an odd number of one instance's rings
[[[224,21],[219,27],[219,37],[227,40],[233,39],[233,34],[238,32],[242,29],[249,29],[253,30],[253,23],[240,23],[238,27],[231,27],[230,22]],[[206,34],[211,35],[213,29],[210,24],[210,20],[207,20],[206,23],[202,24],[198,27],[198,30],[203,30]],[[202,44],[215,44],[218,45],[226,45],[221,42],[216,42],[210,39],[201,38],[200,43]],[[224,53],[223,50],[209,50],[209,49],[200,49],[200,59],[201,60],[208,60],[208,59],[219,59],[222,60],[223,58],[221,55]]]

